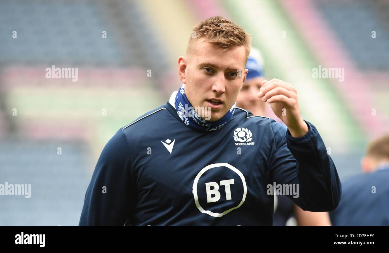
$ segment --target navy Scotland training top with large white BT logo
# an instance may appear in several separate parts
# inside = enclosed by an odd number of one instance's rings
[[[298,184],[303,210],[331,211],[341,183],[314,125],[302,137],[236,108],[202,132],[166,103],[120,128],[104,147],[79,225],[272,225],[268,184]]]

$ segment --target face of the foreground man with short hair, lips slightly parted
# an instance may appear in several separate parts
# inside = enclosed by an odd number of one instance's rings
[[[193,49],[188,58],[179,59],[180,79],[186,83],[185,94],[193,107],[210,107],[210,121],[219,120],[235,103],[244,84],[245,49],[235,46],[219,53],[214,45],[201,39]]]

